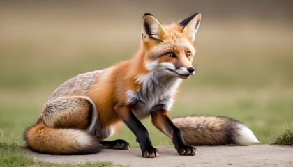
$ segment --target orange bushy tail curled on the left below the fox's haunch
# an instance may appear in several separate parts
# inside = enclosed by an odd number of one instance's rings
[[[86,131],[55,129],[43,123],[33,125],[24,132],[31,150],[45,154],[95,154],[102,146]]]

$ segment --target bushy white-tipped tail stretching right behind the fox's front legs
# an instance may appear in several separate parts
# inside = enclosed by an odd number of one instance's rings
[[[172,120],[189,145],[250,145],[259,142],[246,125],[232,118],[187,116]]]

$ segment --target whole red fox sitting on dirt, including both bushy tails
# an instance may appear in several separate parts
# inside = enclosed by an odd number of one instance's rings
[[[104,70],[77,75],[51,95],[36,125],[24,132],[28,147],[45,154],[95,154],[102,148],[129,150],[123,140],[103,141],[124,122],[135,134],[142,157],[158,157],[140,120],[151,116],[172,138],[180,155],[195,155],[193,145],[249,145],[253,132],[232,118],[188,116],[170,111],[183,79],[195,74],[193,42],[200,13],[163,26],[142,17],[142,42],[135,56]]]

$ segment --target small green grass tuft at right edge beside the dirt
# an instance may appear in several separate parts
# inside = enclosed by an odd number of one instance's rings
[[[289,125],[283,125],[282,132],[278,132],[278,135],[273,140],[273,144],[293,145],[293,129]]]

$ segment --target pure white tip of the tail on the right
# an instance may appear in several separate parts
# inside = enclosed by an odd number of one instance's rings
[[[236,136],[235,141],[239,145],[250,145],[260,142],[257,140],[253,132],[245,125],[239,125],[238,136]]]

